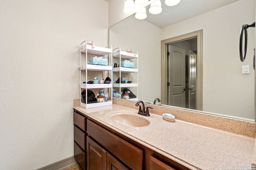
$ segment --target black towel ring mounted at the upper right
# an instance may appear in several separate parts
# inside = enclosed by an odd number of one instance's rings
[[[247,51],[247,29],[248,27],[255,27],[255,22],[251,25],[244,24],[240,31],[240,45],[239,45],[239,51],[240,51],[240,60],[244,62],[246,57],[246,51]],[[244,34],[244,53],[243,53],[243,34]]]

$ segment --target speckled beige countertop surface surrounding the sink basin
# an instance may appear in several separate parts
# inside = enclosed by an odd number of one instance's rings
[[[152,113],[149,117],[141,116],[136,109],[115,104],[74,109],[192,170],[242,169],[252,162],[254,138],[177,119],[168,122]],[[121,120],[116,122],[112,115],[119,113],[138,115],[150,124],[133,127]]]

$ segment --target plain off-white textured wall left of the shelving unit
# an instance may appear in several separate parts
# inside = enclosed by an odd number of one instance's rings
[[[34,170],[74,155],[79,45],[108,45],[104,0],[1,0],[0,167]]]

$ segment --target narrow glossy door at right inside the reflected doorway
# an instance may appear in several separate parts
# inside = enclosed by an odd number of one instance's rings
[[[190,109],[196,109],[196,54],[188,51],[188,106]]]

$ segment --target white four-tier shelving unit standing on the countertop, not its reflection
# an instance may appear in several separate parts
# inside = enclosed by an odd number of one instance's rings
[[[85,45],[82,45],[85,43]],[[100,57],[103,59],[96,60],[98,61],[104,61],[104,65],[98,65],[101,63],[93,63],[88,64],[90,57]],[[80,106],[85,108],[92,108],[92,107],[100,107],[100,106],[108,106],[112,105],[112,95],[108,96],[108,99],[106,97],[106,94],[112,93],[112,82],[108,84],[101,84],[98,83],[100,80],[97,79],[97,81],[93,81],[93,84],[89,84],[89,80],[92,79],[92,77],[101,77],[106,78],[106,76],[109,76],[108,74],[111,74],[110,78],[112,80],[112,64],[109,61],[109,59],[112,58],[112,47],[97,47],[94,45],[88,45],[86,41],[82,42],[80,45]],[[108,60],[106,60],[108,59]],[[94,59],[93,59],[94,60]],[[90,60],[91,62],[91,60]],[[109,73],[110,71],[110,73]],[[94,84],[96,83],[96,84]],[[104,91],[104,98],[103,100],[100,100],[98,98],[95,98],[98,93],[100,93],[100,90]],[[102,95],[102,96],[103,96]],[[106,100],[104,100],[106,99]],[[101,102],[100,102],[101,101]],[[103,101],[103,102],[102,102]]]

